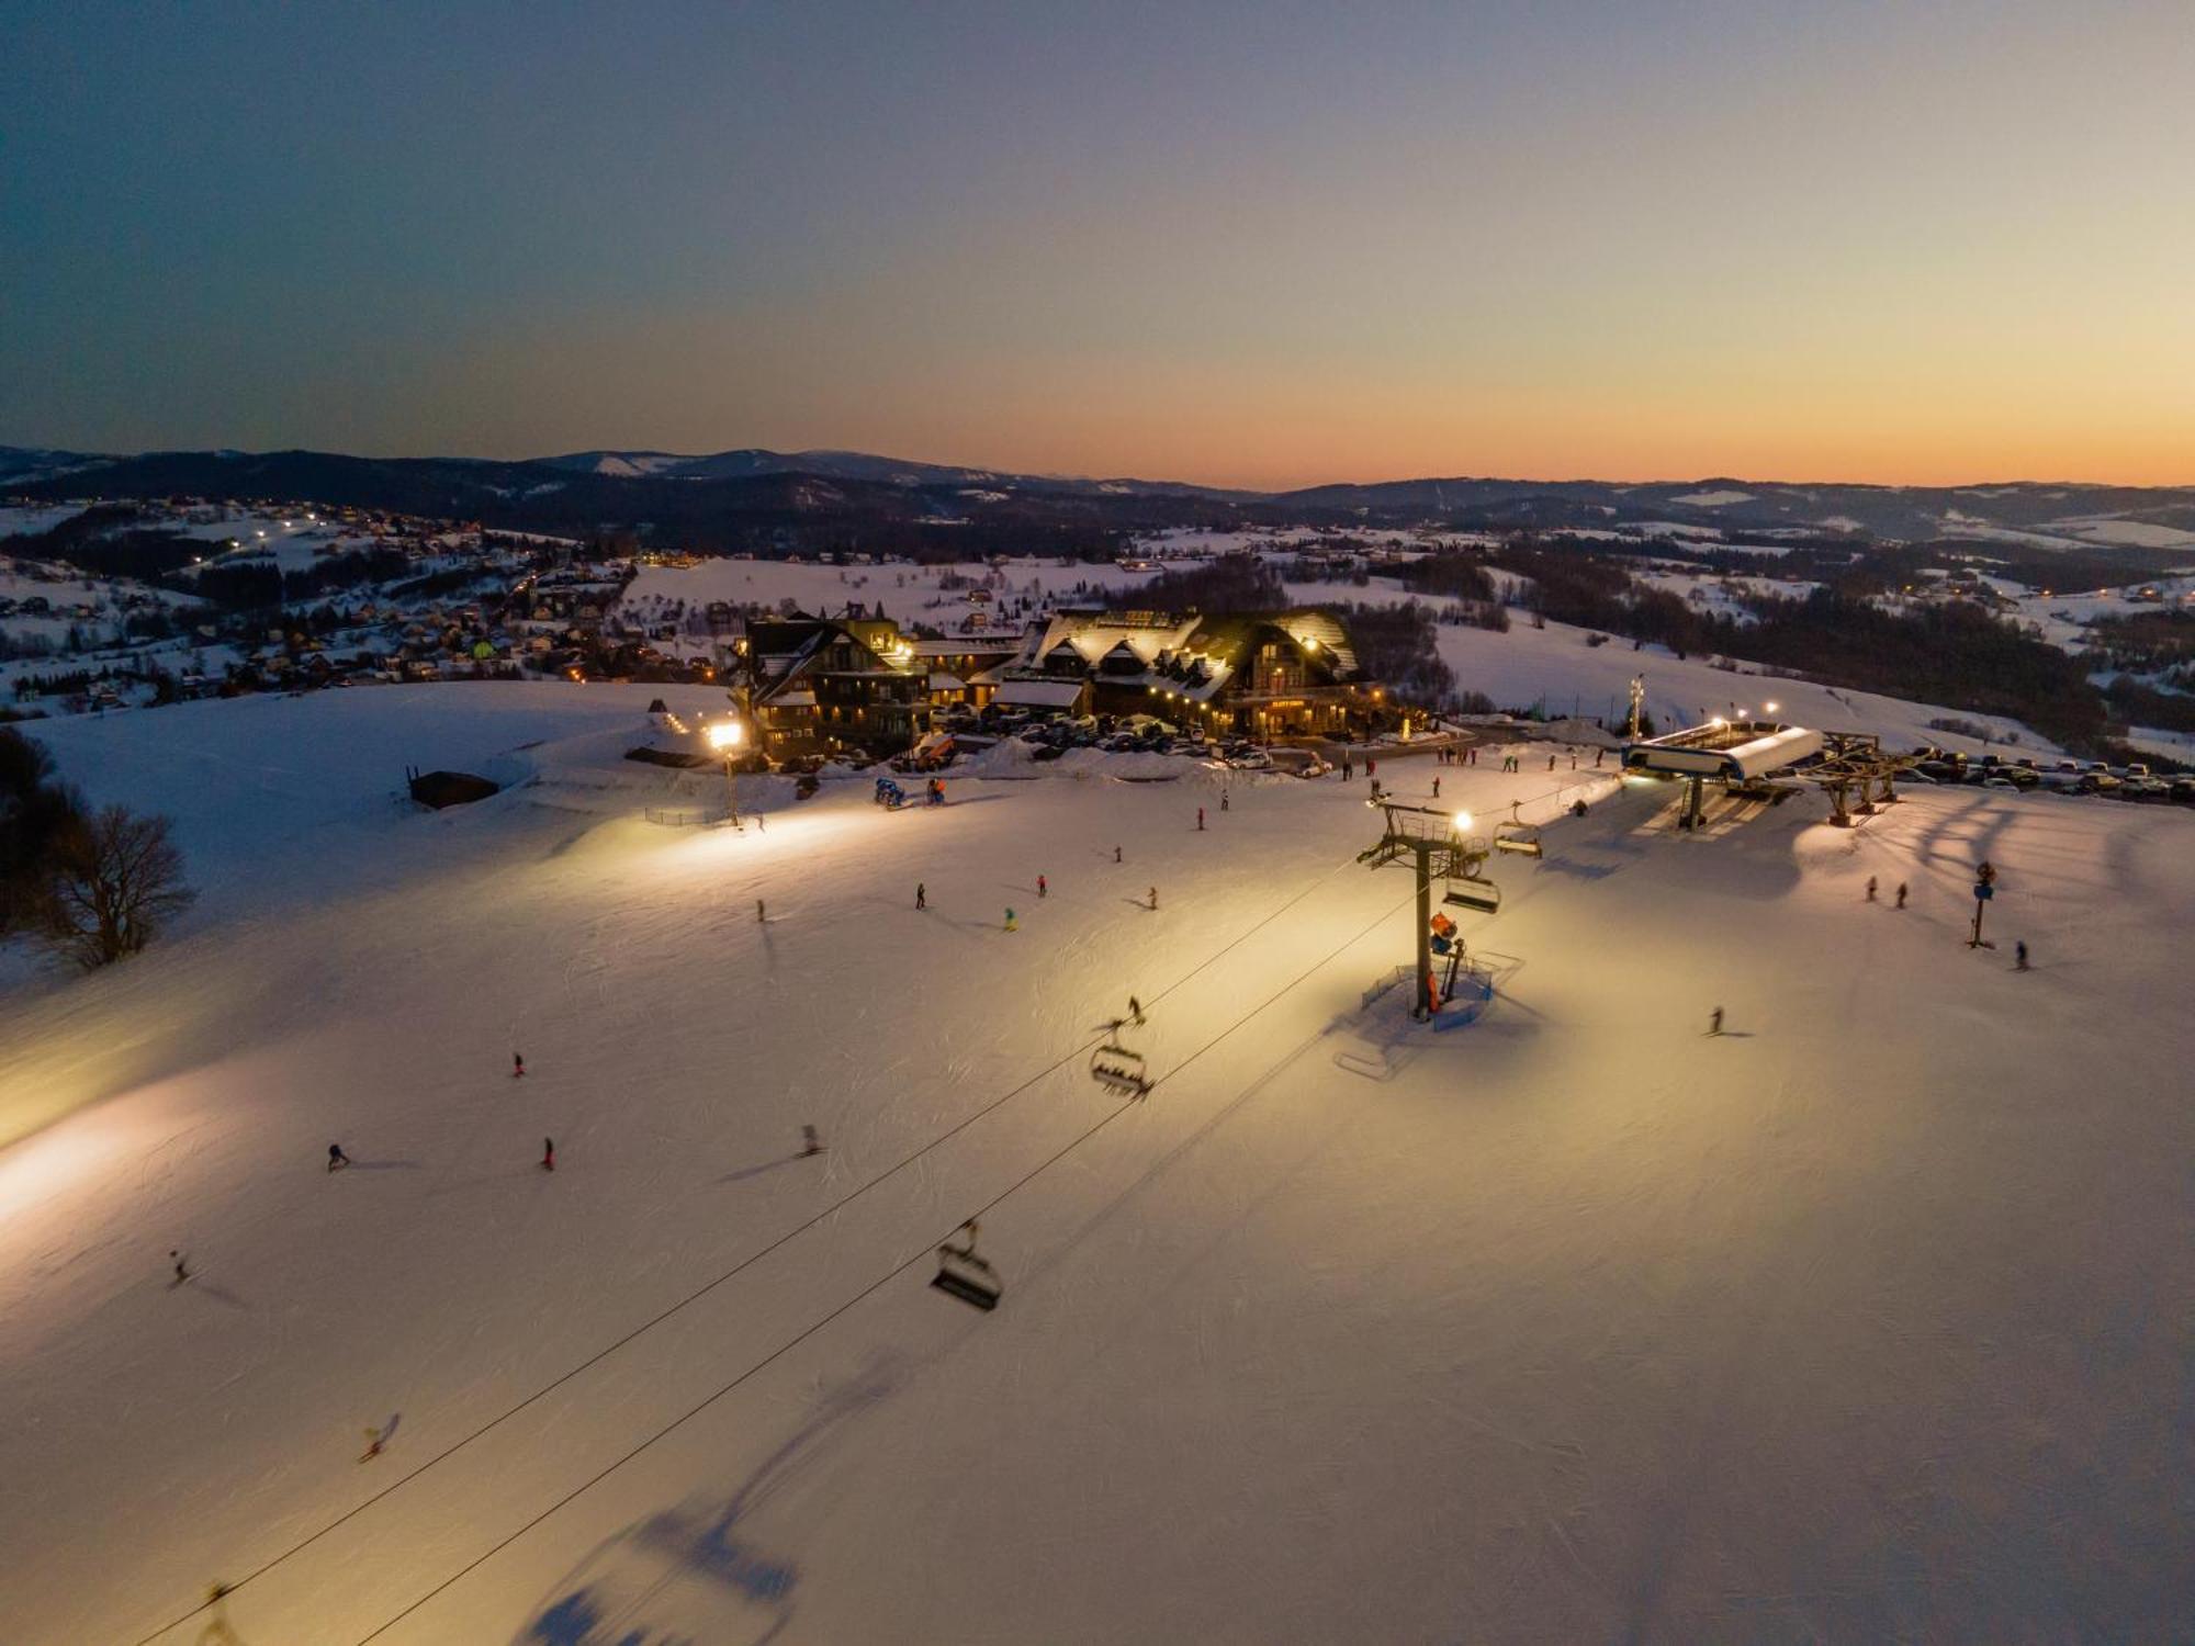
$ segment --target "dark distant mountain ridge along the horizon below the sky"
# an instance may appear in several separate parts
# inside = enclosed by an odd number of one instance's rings
[[[340,452],[140,452],[0,448],[0,489],[35,498],[272,498],[479,518],[586,533],[652,527],[698,546],[821,540],[878,546],[961,533],[1095,538],[1161,527],[1716,529],[1855,540],[2002,540],[2026,549],[2195,553],[2195,487],[2015,481],[1890,487],[1708,476],[1699,481],[1506,481],[1453,476],[1240,492],[1185,481],[1080,478],[918,463],[869,452],[713,454],[593,450],[540,459],[345,456]],[[948,544],[939,542],[939,549]]]

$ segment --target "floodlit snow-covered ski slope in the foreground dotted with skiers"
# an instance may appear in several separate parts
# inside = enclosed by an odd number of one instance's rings
[[[1517,970],[1411,1038],[1361,779],[669,830],[645,696],[40,726],[209,895],[0,996],[59,1115],[0,1152],[7,1639],[193,1642],[215,1580],[255,1646],[2184,1633],[2195,816],[1631,788],[1493,865]],[[540,781],[410,814],[404,759]],[[1436,773],[1550,788],[1381,762]],[[926,1284],[972,1214],[994,1315]]]

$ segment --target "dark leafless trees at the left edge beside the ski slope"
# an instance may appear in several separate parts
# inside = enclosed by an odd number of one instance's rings
[[[90,970],[136,955],[193,898],[165,816],[88,805],[42,744],[0,726],[0,939]]]

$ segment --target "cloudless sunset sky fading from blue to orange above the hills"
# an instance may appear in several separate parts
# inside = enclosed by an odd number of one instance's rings
[[[0,443],[2195,483],[2195,18],[0,0]]]

